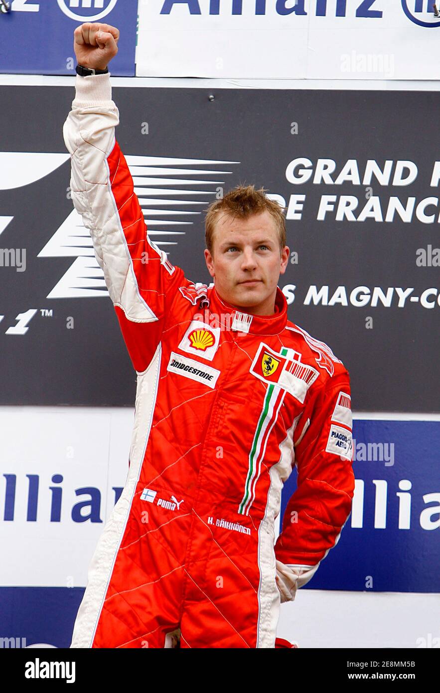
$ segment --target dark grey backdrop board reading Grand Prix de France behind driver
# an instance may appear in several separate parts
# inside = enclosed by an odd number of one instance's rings
[[[134,403],[136,374],[70,199],[72,98],[70,87],[0,87],[1,404]],[[172,263],[209,283],[204,209],[236,184],[264,186],[288,208],[289,317],[349,369],[353,409],[440,411],[440,150],[426,127],[438,92],[114,98],[150,236]]]

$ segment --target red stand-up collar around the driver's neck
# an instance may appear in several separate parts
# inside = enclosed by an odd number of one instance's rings
[[[229,324],[232,331],[247,332],[250,335],[277,335],[283,331],[288,321],[287,301],[279,286],[276,287],[275,313],[272,315],[241,313],[240,310],[220,298],[215,286],[208,290],[208,299],[210,313],[217,313],[220,322],[222,314],[230,315]]]

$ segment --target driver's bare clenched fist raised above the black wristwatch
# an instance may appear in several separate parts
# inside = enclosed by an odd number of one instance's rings
[[[73,32],[73,48],[78,64],[94,70],[105,70],[118,52],[118,40],[119,30],[116,27],[86,21]]]

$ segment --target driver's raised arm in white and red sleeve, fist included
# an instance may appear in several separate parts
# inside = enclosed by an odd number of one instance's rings
[[[118,29],[108,24],[82,24],[74,37],[82,67],[105,70],[118,51]],[[90,231],[133,366],[142,372],[155,354],[184,273],[148,238],[130,170],[115,140],[118,123],[109,72],[77,76],[63,129],[71,153],[71,197]]]

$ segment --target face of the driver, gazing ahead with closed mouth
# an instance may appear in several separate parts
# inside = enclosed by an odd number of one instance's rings
[[[280,254],[275,222],[266,210],[247,219],[221,213],[215,222],[213,253],[204,251],[218,295],[254,315],[274,313],[276,286],[289,254],[287,245]]]

